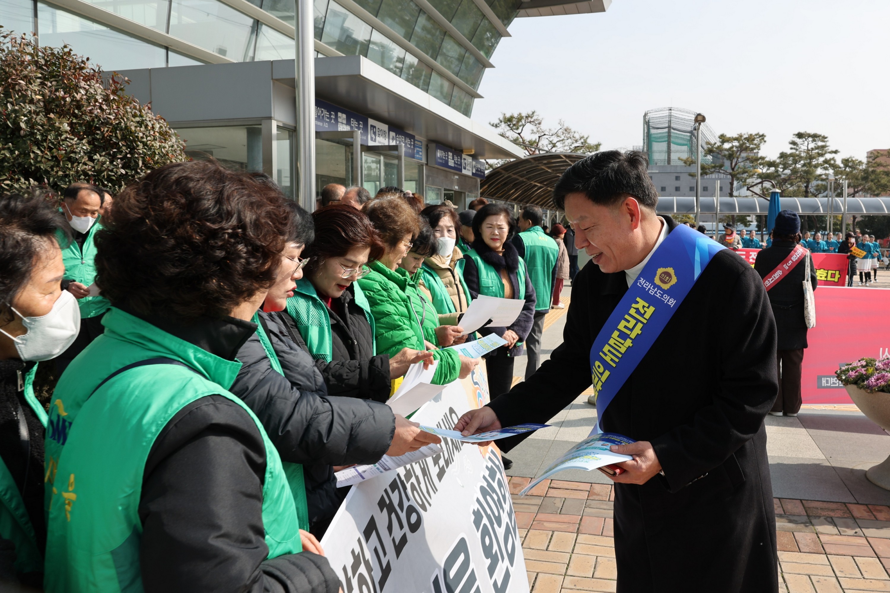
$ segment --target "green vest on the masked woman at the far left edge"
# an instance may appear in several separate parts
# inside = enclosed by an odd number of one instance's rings
[[[31,406],[37,418],[46,426],[46,412],[34,397],[34,375],[37,365],[22,378],[25,389],[25,401]],[[32,469],[34,471],[36,469]],[[28,510],[21,500],[19,486],[0,460],[0,537],[12,541],[15,546],[16,573],[43,573],[44,557],[37,548],[37,537]]]

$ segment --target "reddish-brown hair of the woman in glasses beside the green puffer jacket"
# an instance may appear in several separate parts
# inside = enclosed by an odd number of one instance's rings
[[[312,258],[306,264],[307,274],[320,268],[326,260],[343,257],[356,247],[369,248],[368,261],[384,254],[384,243],[368,216],[347,204],[330,204],[312,212],[315,241],[303,251]]]

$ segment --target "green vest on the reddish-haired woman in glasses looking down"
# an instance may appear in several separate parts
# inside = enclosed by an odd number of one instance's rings
[[[365,293],[361,292],[358,282],[352,283],[352,294],[357,304],[365,313],[365,319],[371,326],[371,335],[374,333],[374,316],[371,315],[371,306]],[[309,280],[297,280],[294,296],[287,299],[287,314],[294,318],[296,328],[303,336],[306,342],[306,348],[312,358],[324,360],[326,363],[331,361],[334,356],[334,349],[331,346],[331,317],[328,314],[328,308],[319,298],[318,292],[315,292],[315,286]],[[377,353],[376,337],[372,344],[374,354]]]

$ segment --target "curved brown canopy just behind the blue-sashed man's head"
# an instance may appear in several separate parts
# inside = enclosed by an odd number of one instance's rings
[[[479,194],[495,200],[553,208],[556,182],[566,169],[585,156],[567,152],[517,158],[486,173],[479,184]]]

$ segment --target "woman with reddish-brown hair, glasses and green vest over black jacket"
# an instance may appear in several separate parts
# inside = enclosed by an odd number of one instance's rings
[[[329,395],[385,402],[392,379],[433,353],[403,348],[392,357],[377,354],[374,317],[356,282],[370,273],[368,260],[384,252],[368,217],[334,204],[313,212],[312,220],[315,241],[303,252],[308,265],[287,300],[287,323],[315,359]]]

